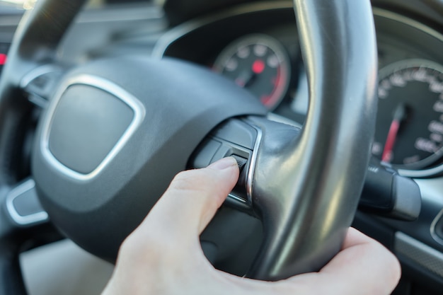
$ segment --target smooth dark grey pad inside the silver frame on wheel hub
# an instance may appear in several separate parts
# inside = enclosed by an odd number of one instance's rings
[[[112,94],[93,86],[70,86],[60,98],[50,125],[50,152],[67,168],[92,173],[133,118],[130,106]]]

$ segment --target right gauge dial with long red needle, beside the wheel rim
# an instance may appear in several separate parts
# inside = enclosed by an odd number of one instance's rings
[[[443,67],[412,59],[382,69],[372,154],[396,168],[422,169],[442,147]]]

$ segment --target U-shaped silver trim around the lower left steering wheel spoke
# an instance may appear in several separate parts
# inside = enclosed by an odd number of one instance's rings
[[[11,190],[6,197],[6,209],[8,210],[9,216],[11,216],[12,220],[18,224],[19,226],[30,226],[35,224],[41,224],[49,220],[49,216],[45,211],[38,212],[35,214],[30,214],[27,216],[22,216],[18,214],[16,207],[14,207],[14,199],[16,197],[22,195],[24,192],[28,190],[33,190],[35,187],[34,180],[30,179],[19,185],[18,187]]]

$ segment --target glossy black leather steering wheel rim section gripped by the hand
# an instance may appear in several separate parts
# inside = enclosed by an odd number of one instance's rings
[[[309,81],[309,110],[301,137],[288,143],[298,145],[290,155],[294,167],[288,169],[295,176],[286,179],[294,185],[273,185],[284,206],[276,207],[267,197],[255,201],[265,215],[264,226],[285,219],[265,230],[265,243],[249,274],[258,279],[317,271],[338,253],[362,192],[374,134],[377,54],[369,1],[294,0],[294,7]],[[257,169],[275,171],[282,165]],[[266,175],[258,183],[277,183],[279,178],[284,175]],[[330,219],[332,212],[335,218]],[[282,224],[290,228],[278,230]]]

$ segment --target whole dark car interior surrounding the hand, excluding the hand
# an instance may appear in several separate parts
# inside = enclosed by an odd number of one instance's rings
[[[99,294],[173,176],[225,156],[217,269],[315,272],[352,225],[394,295],[442,294],[443,1],[0,1],[0,294]]]

